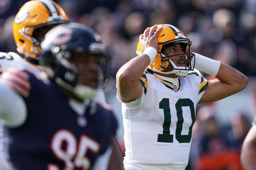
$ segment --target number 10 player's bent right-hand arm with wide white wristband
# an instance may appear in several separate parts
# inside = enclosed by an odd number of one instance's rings
[[[198,103],[213,102],[224,99],[232,94],[243,90],[248,78],[240,71],[227,64],[212,60],[203,55],[195,53],[195,68],[217,79],[208,81],[204,95]]]

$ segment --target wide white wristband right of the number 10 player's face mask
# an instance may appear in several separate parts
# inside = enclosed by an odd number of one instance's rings
[[[197,53],[194,54],[195,57],[193,57],[191,61],[192,66],[195,62],[195,69],[215,77],[220,69],[220,61],[213,60]]]

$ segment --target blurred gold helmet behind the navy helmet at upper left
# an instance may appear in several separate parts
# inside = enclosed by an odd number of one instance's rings
[[[52,0],[31,0],[25,3],[13,21],[13,36],[17,51],[26,59],[38,64],[40,42],[52,27],[68,22],[68,16]]]

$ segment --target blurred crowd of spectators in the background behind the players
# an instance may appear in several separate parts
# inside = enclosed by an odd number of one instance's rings
[[[226,63],[249,77],[255,97],[256,1],[255,0],[54,0],[71,22],[93,27],[112,55],[112,75],[106,89],[122,129],[121,104],[116,100],[116,72],[136,56],[139,35],[149,26],[171,24],[192,41],[192,51]],[[0,51],[17,52],[12,22],[27,0],[0,0]],[[138,63],[140,64],[140,63]],[[212,79],[204,75],[208,80]],[[251,82],[250,82],[251,81]],[[243,102],[243,101],[240,101]],[[253,103],[253,102],[252,102]],[[253,107],[253,106],[252,106]],[[199,105],[187,169],[242,169],[241,144],[254,113],[237,110],[221,126],[215,104]],[[253,112],[253,111],[252,111]],[[225,113],[222,113],[225,114]],[[122,130],[117,134],[120,146]]]

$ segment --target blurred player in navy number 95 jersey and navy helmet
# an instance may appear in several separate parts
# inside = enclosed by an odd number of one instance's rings
[[[117,121],[94,100],[110,56],[92,28],[62,24],[41,43],[49,77],[10,68],[0,78],[7,168],[123,169]]]

